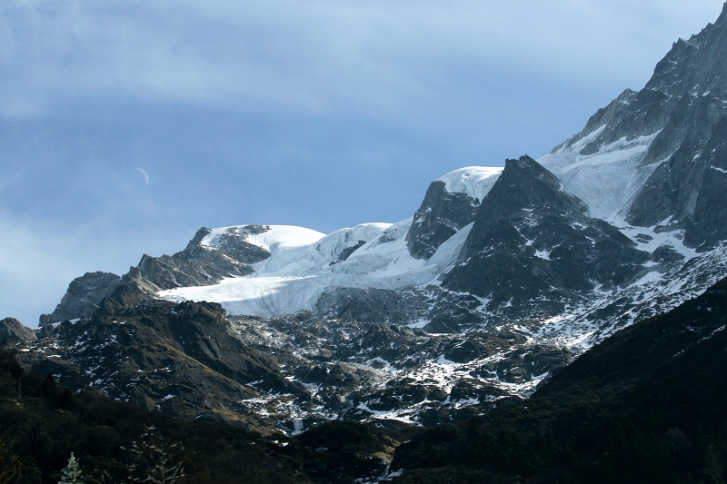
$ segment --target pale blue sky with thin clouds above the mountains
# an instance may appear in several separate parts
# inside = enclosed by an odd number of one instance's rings
[[[641,89],[722,0],[4,0],[0,318],[200,227],[413,215]]]

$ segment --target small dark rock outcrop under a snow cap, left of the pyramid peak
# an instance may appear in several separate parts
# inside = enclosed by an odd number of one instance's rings
[[[441,181],[430,184],[406,234],[409,252],[417,259],[432,257],[443,242],[473,222],[479,204],[465,193],[447,192]]]

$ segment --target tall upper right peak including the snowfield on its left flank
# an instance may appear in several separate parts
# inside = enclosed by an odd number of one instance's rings
[[[543,164],[594,215],[682,232],[687,245],[712,249],[727,234],[725,71],[727,10],[674,43],[640,92],[623,92]]]

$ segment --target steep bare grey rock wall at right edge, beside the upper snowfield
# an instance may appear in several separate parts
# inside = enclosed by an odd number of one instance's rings
[[[727,10],[689,40],[680,40],[654,72],[648,88],[672,103],[662,132],[642,163],[659,163],[635,199],[628,221],[684,231],[688,244],[708,249],[722,240],[727,190]]]

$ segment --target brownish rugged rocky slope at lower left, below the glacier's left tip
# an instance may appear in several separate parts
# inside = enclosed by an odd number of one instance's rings
[[[214,303],[142,301],[102,309],[28,341],[18,355],[33,373],[71,388],[93,387],[143,408],[199,420],[224,420],[254,430],[274,427],[241,401],[267,393],[304,397],[264,351],[231,337]]]

